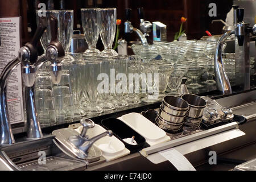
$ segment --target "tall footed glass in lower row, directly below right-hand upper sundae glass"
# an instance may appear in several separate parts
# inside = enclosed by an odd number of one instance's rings
[[[115,106],[110,102],[110,68],[113,64],[113,59],[106,59],[105,57],[98,57],[97,59],[101,64],[101,76],[102,84],[98,86],[99,98],[97,105],[103,110],[114,110]]]

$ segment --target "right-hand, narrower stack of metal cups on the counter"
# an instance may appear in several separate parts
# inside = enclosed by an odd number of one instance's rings
[[[184,94],[181,98],[189,105],[189,110],[184,118],[183,130],[187,133],[191,133],[200,129],[203,112],[207,102],[194,94]]]

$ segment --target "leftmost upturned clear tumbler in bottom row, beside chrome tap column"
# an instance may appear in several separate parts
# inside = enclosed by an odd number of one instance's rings
[[[36,112],[41,126],[50,126],[56,123],[54,97],[51,89],[35,90]]]

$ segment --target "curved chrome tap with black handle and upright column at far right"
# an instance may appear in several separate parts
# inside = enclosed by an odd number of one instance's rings
[[[214,55],[214,72],[217,89],[222,94],[232,93],[228,76],[226,75],[222,61],[222,46],[228,36],[234,34],[236,39],[236,84],[243,85],[243,89],[250,89],[250,33],[256,35],[256,25],[249,27],[248,23],[243,23],[244,9],[237,9],[237,22],[235,30],[228,31],[218,40]],[[255,38],[254,38],[255,39]],[[254,40],[255,41],[255,40]]]

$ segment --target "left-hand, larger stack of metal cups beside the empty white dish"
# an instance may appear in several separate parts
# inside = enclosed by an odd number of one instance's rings
[[[184,118],[189,110],[186,101],[179,97],[166,96],[160,105],[156,125],[170,134],[183,131]]]

